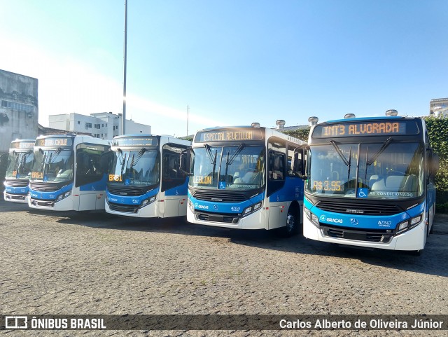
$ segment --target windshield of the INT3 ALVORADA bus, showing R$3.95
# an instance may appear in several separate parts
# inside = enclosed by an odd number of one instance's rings
[[[423,158],[419,143],[314,145],[305,191],[335,198],[416,198],[423,194]]]

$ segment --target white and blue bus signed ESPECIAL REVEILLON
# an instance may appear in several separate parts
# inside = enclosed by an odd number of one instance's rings
[[[181,167],[190,175],[187,220],[296,233],[303,180],[290,163],[304,143],[258,123],[197,132],[193,149],[181,156]]]

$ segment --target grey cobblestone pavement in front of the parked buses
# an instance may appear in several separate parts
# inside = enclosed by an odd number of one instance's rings
[[[448,217],[421,256],[0,201],[2,314],[448,314]],[[8,336],[446,336],[447,331],[4,331]]]

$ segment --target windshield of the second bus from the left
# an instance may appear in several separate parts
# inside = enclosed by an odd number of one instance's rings
[[[38,149],[34,151],[34,165],[31,180],[50,182],[73,179],[73,151],[71,149]]]

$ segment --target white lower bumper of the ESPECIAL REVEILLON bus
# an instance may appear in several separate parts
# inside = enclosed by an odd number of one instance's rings
[[[258,209],[257,211],[244,216],[238,220],[237,223],[226,223],[218,221],[204,221],[198,218],[197,213],[193,213],[190,207],[187,208],[187,221],[190,223],[197,223],[206,226],[215,226],[223,228],[237,228],[237,229],[268,229],[267,211],[265,209]]]

